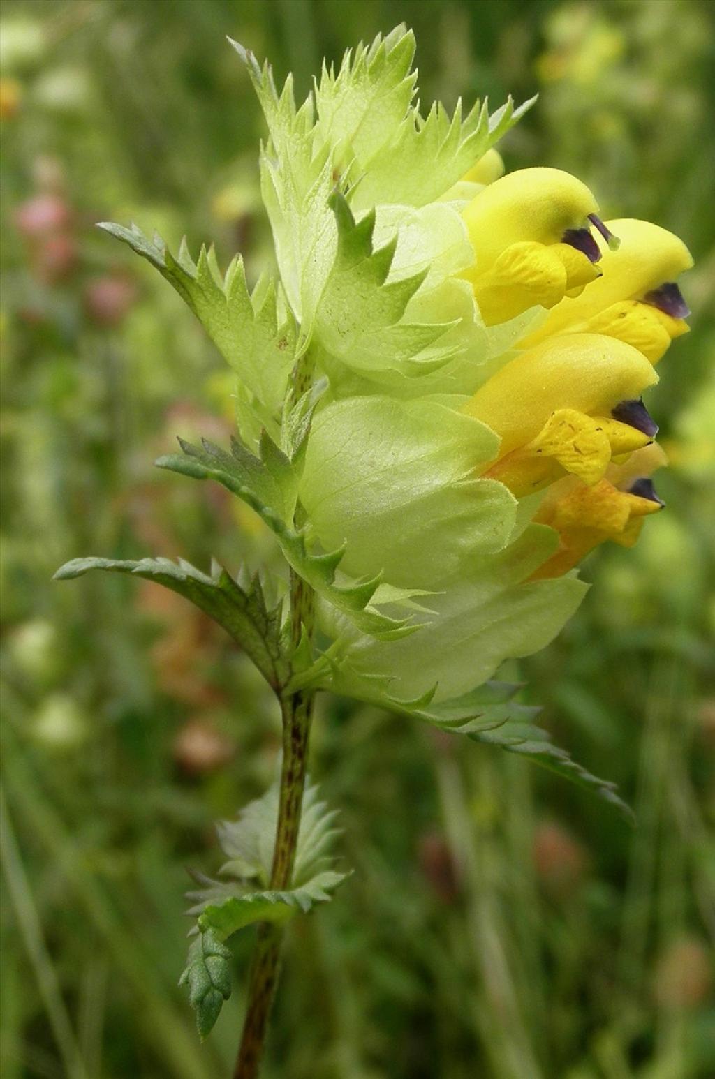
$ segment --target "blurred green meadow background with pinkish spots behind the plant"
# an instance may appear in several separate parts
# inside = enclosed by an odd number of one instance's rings
[[[301,92],[401,21],[423,103],[540,101],[509,168],[577,173],[603,216],[676,231],[692,332],[649,409],[669,509],[602,549],[579,615],[511,670],[630,830],[523,761],[323,700],[312,769],[355,874],[296,924],[267,1079],[712,1079],[715,175],[712,0],[4,0],[3,1079],[219,1079],[176,986],[186,866],[273,775],[279,720],[212,624],[80,555],[264,557],[221,490],[152,468],[225,438],[230,381],[181,301],[93,228],[270,260],[262,133],[226,33]],[[429,162],[426,162],[429,167]],[[251,933],[235,941],[242,983]]]

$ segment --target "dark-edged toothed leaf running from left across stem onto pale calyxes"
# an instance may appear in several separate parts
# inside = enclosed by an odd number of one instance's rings
[[[312,552],[308,545],[308,532],[305,529],[294,529],[286,523],[284,513],[276,513],[274,506],[280,501],[282,489],[275,483],[274,477],[289,462],[287,457],[283,457],[285,465],[282,463],[278,456],[280,451],[275,447],[271,451],[275,459],[274,465],[261,470],[261,462],[252,457],[243,447],[238,447],[238,443],[234,443],[232,454],[206,441],[202,449],[187,442],[180,445],[184,456],[160,457],[157,462],[159,467],[193,479],[214,479],[242,498],[273,532],[293,570],[354,626],[378,640],[396,640],[414,631],[415,626],[408,625],[407,618],[392,617],[377,610],[381,599],[379,576],[367,581],[346,578],[345,582],[338,582],[336,572],[345,548],[326,554]],[[240,451],[238,455],[237,447]]]

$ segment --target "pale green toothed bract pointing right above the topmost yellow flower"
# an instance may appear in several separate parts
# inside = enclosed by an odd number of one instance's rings
[[[379,203],[423,206],[443,195],[531,108],[536,97],[514,108],[509,97],[489,115],[475,101],[462,119],[461,100],[451,117],[435,101],[427,119],[410,110],[394,138],[377,153],[355,187],[353,206]],[[353,169],[358,170],[354,165]],[[358,178],[358,175],[354,176]]]

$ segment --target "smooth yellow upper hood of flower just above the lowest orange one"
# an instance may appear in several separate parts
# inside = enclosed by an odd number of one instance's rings
[[[501,436],[499,457],[536,438],[553,412],[608,415],[658,375],[631,345],[596,333],[567,333],[520,353],[464,406]]]

